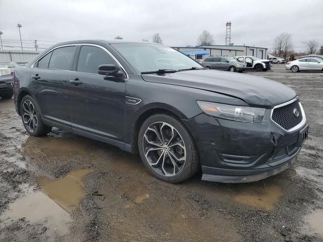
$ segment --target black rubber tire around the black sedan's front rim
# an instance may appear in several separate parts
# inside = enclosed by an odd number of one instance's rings
[[[143,139],[146,129],[151,125],[159,122],[167,123],[173,126],[176,131],[180,134],[184,145],[186,148],[186,161],[183,164],[182,169],[175,175],[166,176],[165,174],[158,173],[152,166],[148,163],[147,158],[144,154]],[[167,143],[166,143],[167,144]],[[198,151],[193,140],[193,137],[187,130],[187,128],[181,123],[180,119],[175,116],[170,116],[167,114],[155,114],[148,117],[142,124],[139,135],[138,135],[138,150],[141,160],[147,170],[156,178],[160,180],[167,181],[169,183],[181,183],[190,177],[192,177],[199,169],[199,158]]]

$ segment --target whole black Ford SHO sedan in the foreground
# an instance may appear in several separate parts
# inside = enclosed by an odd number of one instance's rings
[[[58,127],[139,153],[170,183],[200,168],[203,180],[263,179],[295,162],[308,135],[290,87],[147,42],[53,45],[15,70],[14,102],[30,135]]]

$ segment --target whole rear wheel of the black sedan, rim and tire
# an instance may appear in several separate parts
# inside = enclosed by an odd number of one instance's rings
[[[24,127],[31,136],[44,136],[51,131],[51,127],[42,122],[40,108],[31,96],[22,98],[20,113]]]

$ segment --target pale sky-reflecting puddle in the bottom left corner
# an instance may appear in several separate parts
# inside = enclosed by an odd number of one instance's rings
[[[45,226],[46,234],[51,237],[67,234],[68,223],[72,221],[70,214],[42,192],[33,192],[32,189],[23,189],[25,196],[2,213],[0,226],[8,226],[15,220],[25,218],[30,224]]]

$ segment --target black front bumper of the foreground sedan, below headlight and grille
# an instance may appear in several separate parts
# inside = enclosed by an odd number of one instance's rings
[[[300,130],[307,127],[288,132],[273,122],[270,109],[261,124],[203,113],[183,122],[196,142],[202,179],[230,183],[263,179],[289,167],[301,149]]]

